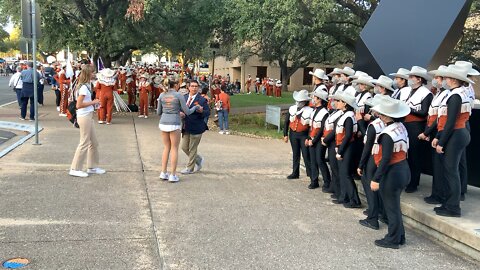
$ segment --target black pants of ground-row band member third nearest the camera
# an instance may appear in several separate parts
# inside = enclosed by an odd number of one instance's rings
[[[351,205],[359,205],[360,197],[358,197],[358,190],[352,177],[352,166],[354,147],[349,145],[343,153],[343,159],[338,161],[338,172],[340,177],[340,201],[349,203]]]

